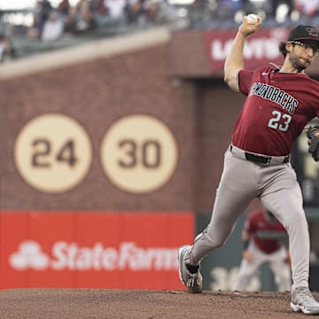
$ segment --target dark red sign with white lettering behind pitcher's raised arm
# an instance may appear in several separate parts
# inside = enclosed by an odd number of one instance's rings
[[[236,33],[237,30],[216,30],[204,33],[212,71],[222,71]],[[269,62],[281,65],[284,59],[278,51],[278,45],[287,38],[288,33],[287,28],[264,28],[248,37],[244,50],[245,67],[253,69]]]

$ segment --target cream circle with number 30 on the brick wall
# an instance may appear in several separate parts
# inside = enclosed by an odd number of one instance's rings
[[[156,191],[171,178],[178,159],[175,136],[158,119],[144,114],[115,121],[101,144],[101,163],[122,191]]]

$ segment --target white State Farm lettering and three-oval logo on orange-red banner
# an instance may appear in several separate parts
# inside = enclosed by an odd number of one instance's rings
[[[9,256],[15,270],[175,270],[178,268],[177,248],[138,247],[134,242],[123,242],[118,248],[102,243],[79,246],[59,241],[52,245],[51,254],[43,253],[33,240],[22,242],[18,251]]]

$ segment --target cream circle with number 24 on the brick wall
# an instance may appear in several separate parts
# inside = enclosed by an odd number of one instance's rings
[[[89,136],[73,118],[48,113],[27,122],[14,145],[21,177],[38,191],[68,191],[87,175],[92,161]]]

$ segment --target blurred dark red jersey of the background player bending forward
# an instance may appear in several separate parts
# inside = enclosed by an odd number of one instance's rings
[[[249,214],[244,230],[250,235],[254,244],[264,253],[274,253],[282,245],[286,236],[284,226],[276,221],[270,223],[265,218],[262,209]]]

